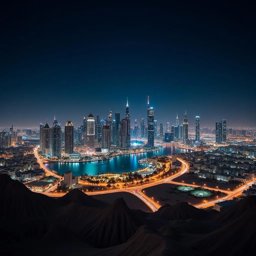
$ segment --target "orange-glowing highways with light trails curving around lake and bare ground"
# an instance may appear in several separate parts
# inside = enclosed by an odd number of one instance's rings
[[[37,148],[35,149],[34,152],[35,152],[35,156],[36,156],[38,162],[40,163],[41,168],[43,168],[47,172],[48,175],[52,175],[57,178],[62,178],[61,176],[51,172],[49,169],[47,169],[45,167],[45,165],[42,163],[40,157],[37,154]],[[194,184],[187,184],[187,183],[173,181],[173,179],[179,177],[180,175],[185,174],[189,169],[187,162],[185,162],[181,158],[177,158],[177,159],[182,163],[182,169],[178,173],[171,175],[169,177],[166,177],[164,179],[158,180],[156,182],[144,184],[143,187],[142,186],[134,186],[134,187],[126,187],[126,189],[120,188],[120,189],[114,189],[114,190],[100,190],[100,191],[98,190],[98,191],[94,191],[94,192],[86,192],[86,194],[87,195],[100,195],[100,194],[127,192],[127,193],[131,193],[132,195],[135,195],[140,200],[142,200],[153,212],[157,211],[161,207],[161,205],[158,202],[156,202],[155,200],[153,200],[153,198],[146,196],[143,193],[143,189],[152,187],[152,186],[156,186],[159,184],[163,184],[163,183],[182,185],[182,186],[190,186],[190,187],[198,187],[198,185],[194,185]],[[247,189],[249,186],[251,186],[255,181],[256,181],[256,178],[254,180],[252,180],[251,182],[244,184],[243,186],[241,186],[235,190],[232,190],[232,191],[227,191],[227,190],[223,190],[223,189],[219,189],[219,188],[212,188],[212,187],[204,186],[205,189],[220,191],[220,192],[226,193],[227,196],[220,197],[218,199],[216,198],[216,199],[210,200],[210,201],[205,201],[201,204],[196,204],[194,206],[197,208],[206,208],[206,207],[214,205],[216,202],[232,199],[233,197],[241,195],[242,191]],[[57,188],[57,185],[51,187],[49,190],[54,190],[56,188]],[[49,193],[49,191],[47,190],[47,191],[43,192],[42,194],[45,194],[45,195],[51,196],[51,197],[61,197],[61,196],[65,195],[66,193]]]

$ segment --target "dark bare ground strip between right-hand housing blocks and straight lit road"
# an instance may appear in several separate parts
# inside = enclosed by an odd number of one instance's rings
[[[220,182],[217,180],[198,178],[197,174],[190,174],[190,173],[185,173],[175,178],[173,181],[182,182],[183,180],[184,180],[184,183],[193,184],[193,182],[195,182],[195,185],[198,185],[198,186],[203,186],[204,184],[206,184],[207,187],[216,188],[218,186],[218,188],[225,189],[225,190],[227,190],[228,188],[230,190],[234,190],[237,188],[237,186],[239,186],[239,184],[236,184],[236,183],[232,184],[228,182],[226,184],[225,182]]]

